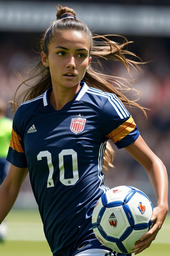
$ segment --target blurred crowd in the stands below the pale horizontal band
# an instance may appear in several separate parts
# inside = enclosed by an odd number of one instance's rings
[[[3,32],[0,34],[2,60],[0,62],[0,97],[6,102],[11,101],[20,83],[16,73],[19,72],[23,78],[26,78],[33,67],[28,64],[29,61],[40,57],[36,52],[39,37],[39,34],[31,33]],[[147,110],[148,119],[139,109],[128,108],[128,110],[132,113],[142,137],[163,160],[170,173],[170,39],[132,36],[127,38],[134,41],[130,48],[132,52],[135,52],[143,61],[152,61],[142,66],[143,71],[131,70],[132,77],[135,79],[132,87],[141,91],[139,103],[150,109]],[[32,65],[33,62],[31,62]],[[108,68],[114,74],[130,78],[126,68],[117,62],[109,62]],[[7,116],[13,118],[10,108]],[[126,150],[118,150],[114,145],[113,148],[116,155],[113,163],[115,168],[105,171],[105,184],[114,187],[124,182],[142,190],[148,182],[145,171],[126,153]],[[27,190],[30,190],[29,180],[26,180],[22,186],[22,191]],[[148,193],[152,194],[150,186],[148,190]],[[151,200],[155,199],[151,198]]]

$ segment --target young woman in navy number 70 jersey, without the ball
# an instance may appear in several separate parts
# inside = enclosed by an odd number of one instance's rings
[[[157,195],[151,217],[155,225],[135,245],[135,254],[150,245],[166,217],[166,168],[139,135],[123,103],[144,109],[115,89],[113,85],[123,86],[117,77],[90,65],[94,57],[121,61],[127,68],[137,65],[124,55],[134,55],[123,49],[128,43],[92,37],[73,9],[59,6],[57,20],[41,40],[42,62],[31,73],[39,80],[24,92],[26,101],[15,113],[7,156],[11,167],[0,187],[0,222],[29,171],[53,256],[123,256],[100,244],[91,224],[93,208],[108,190],[102,174],[103,158],[108,166],[113,157],[109,148],[104,157],[108,139],[144,166]]]

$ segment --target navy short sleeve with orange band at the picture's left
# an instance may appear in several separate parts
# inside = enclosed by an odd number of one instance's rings
[[[24,152],[24,143],[22,138],[23,133],[20,128],[20,112],[21,106],[18,108],[13,118],[13,127],[11,132],[11,141],[7,154],[7,161],[19,168],[26,168],[28,165]]]

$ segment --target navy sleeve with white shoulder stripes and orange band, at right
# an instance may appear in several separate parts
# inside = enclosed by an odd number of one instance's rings
[[[139,130],[132,116],[115,94],[108,94],[101,115],[102,133],[117,148],[132,144],[139,137]]]

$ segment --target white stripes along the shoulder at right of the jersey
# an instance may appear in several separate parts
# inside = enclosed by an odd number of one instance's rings
[[[115,94],[108,93],[108,92],[102,92],[101,90],[97,90],[94,88],[88,88],[88,93],[107,98],[121,119],[129,117],[129,115],[130,115],[129,112],[126,110],[123,103],[117,98],[117,96]]]

